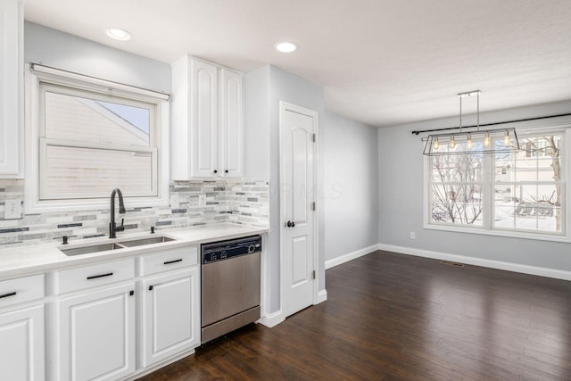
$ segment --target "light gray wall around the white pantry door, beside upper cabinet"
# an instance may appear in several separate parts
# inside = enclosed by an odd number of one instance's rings
[[[269,313],[280,309],[280,216],[279,216],[279,102],[297,104],[319,112],[323,126],[323,87],[275,66],[266,65],[244,76],[246,179],[269,178],[270,233],[266,245],[269,261]],[[250,141],[250,138],[252,140]],[[320,137],[319,137],[320,139]],[[320,163],[321,164],[321,163]],[[322,170],[319,171],[320,173]],[[322,176],[322,175],[320,175]],[[319,180],[319,179],[318,179]],[[322,208],[321,208],[322,209]],[[319,210],[319,221],[323,211]],[[319,290],[325,289],[323,224],[319,231]]]

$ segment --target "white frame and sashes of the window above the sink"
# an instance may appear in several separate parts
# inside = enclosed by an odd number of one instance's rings
[[[46,138],[43,119],[41,118],[42,94],[41,87],[61,86],[79,91],[98,93],[100,95],[118,95],[134,101],[154,104],[154,134],[150,137],[150,146],[137,146],[135,151],[150,154],[153,160],[153,184],[156,184],[150,194],[123,194],[128,207],[165,206],[169,204],[169,95],[153,92],[138,87],[130,87],[104,79],[83,76],[65,70],[57,70],[38,64],[27,64],[26,81],[26,186],[24,187],[25,212],[41,213],[54,211],[85,211],[108,209],[109,198],[97,195],[47,195],[45,181],[40,176],[46,173],[45,158],[48,145],[77,146],[77,142],[66,142],[60,139]],[[73,91],[73,90],[71,90]],[[97,144],[80,145],[82,148],[110,147]],[[113,146],[114,151],[134,151],[132,146]],[[156,181],[154,181],[156,179]],[[109,189],[111,195],[112,189]],[[46,199],[49,198],[49,199]]]

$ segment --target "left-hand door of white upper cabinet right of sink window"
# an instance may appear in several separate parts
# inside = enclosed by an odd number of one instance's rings
[[[191,178],[215,178],[217,168],[218,69],[191,60]],[[173,158],[177,160],[177,158]]]

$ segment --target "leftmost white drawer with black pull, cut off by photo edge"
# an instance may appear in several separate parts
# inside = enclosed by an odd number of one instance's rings
[[[44,274],[0,282],[0,308],[40,299],[44,295]]]

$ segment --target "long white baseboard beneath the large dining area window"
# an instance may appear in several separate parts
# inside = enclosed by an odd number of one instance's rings
[[[537,266],[523,265],[519,263],[484,260],[482,258],[468,257],[450,253],[432,252],[429,250],[414,249],[411,247],[394,246],[392,244],[378,244],[378,249],[385,250],[387,252],[416,255],[418,257],[432,258],[442,261],[459,262],[491,269],[504,269],[508,271],[520,272],[523,274],[537,275],[540,277],[553,277],[556,279],[571,280],[571,271],[560,269],[548,269]]]

